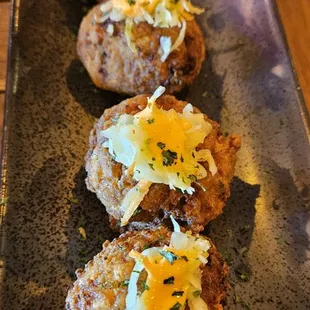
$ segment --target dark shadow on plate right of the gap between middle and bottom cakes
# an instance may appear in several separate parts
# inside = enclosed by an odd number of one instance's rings
[[[234,177],[231,197],[223,214],[206,228],[206,233],[230,266],[232,287],[238,282],[247,282],[251,277],[247,252],[252,241],[255,204],[259,195],[260,185],[250,185]],[[229,291],[229,298],[234,298],[233,291]]]

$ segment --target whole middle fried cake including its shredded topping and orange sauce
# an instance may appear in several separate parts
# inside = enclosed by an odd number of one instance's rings
[[[112,228],[146,228],[173,215],[200,231],[230,196],[240,137],[222,135],[216,122],[163,91],[105,110],[91,131],[86,184]]]

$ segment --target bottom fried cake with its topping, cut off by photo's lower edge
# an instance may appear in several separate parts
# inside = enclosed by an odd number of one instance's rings
[[[163,227],[127,232],[76,271],[66,309],[220,310],[227,275],[205,237]]]

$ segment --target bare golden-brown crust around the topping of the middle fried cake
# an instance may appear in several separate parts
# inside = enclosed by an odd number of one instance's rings
[[[90,148],[86,156],[88,172],[86,184],[88,189],[95,192],[105,205],[110,214],[112,226],[116,226],[117,221],[122,218],[123,214],[119,206],[126,193],[135,186],[136,181],[125,172],[126,167],[115,162],[108,150],[102,147],[102,141],[98,138],[99,133],[112,126],[117,116],[134,115],[144,109],[146,103],[147,95],[139,95],[105,110],[90,134]],[[157,99],[156,103],[165,110],[173,108],[177,112],[182,112],[187,104],[167,95]],[[194,111],[199,112],[198,109]],[[223,136],[219,125],[206,115],[205,120],[213,128],[198,149],[209,149],[218,168],[218,173],[214,176],[209,173],[206,178],[199,180],[206,191],[193,184],[195,193],[188,195],[170,190],[164,184],[152,184],[140,204],[142,212],[131,219],[132,226],[135,228],[149,227],[147,225],[150,223],[158,224],[172,214],[176,219],[186,222],[191,230],[201,231],[203,226],[221,214],[230,196],[230,182],[234,174],[236,152],[240,148],[241,141],[238,135]],[[208,170],[208,164],[206,162],[202,164]]]

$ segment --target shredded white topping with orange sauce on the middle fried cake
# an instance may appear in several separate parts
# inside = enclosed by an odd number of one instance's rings
[[[207,176],[200,162],[207,161],[211,173],[217,172],[210,150],[196,151],[211,132],[211,124],[203,114],[194,114],[191,104],[182,113],[158,108],[155,101],[164,91],[159,87],[144,110],[121,115],[115,125],[101,132],[108,139],[104,146],[113,158],[128,167],[128,173],[139,182],[122,203],[122,225],[127,224],[151,183],[167,184],[192,194],[191,184]]]

